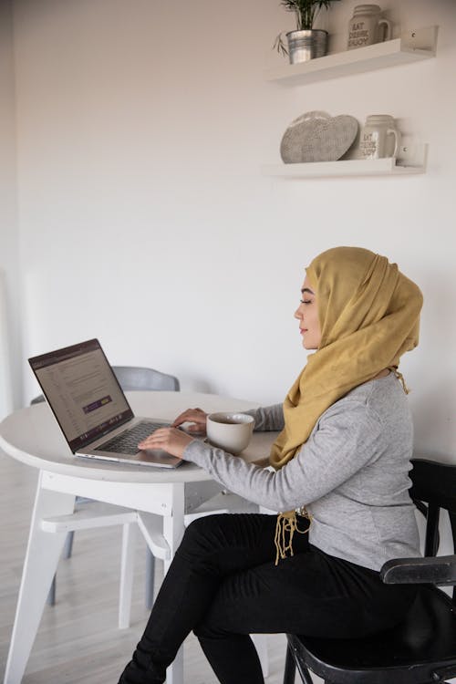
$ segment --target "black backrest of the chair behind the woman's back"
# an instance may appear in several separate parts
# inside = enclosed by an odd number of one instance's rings
[[[448,511],[453,538],[453,554],[456,553],[456,465],[412,459],[410,472],[412,487],[410,496],[421,513],[425,513],[426,539],[425,555],[436,555],[439,549],[440,509]],[[423,511],[422,503],[426,503]],[[453,589],[453,603],[456,604],[456,587]]]

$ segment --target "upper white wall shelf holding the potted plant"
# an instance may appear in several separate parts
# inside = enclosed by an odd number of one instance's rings
[[[400,38],[384,43],[268,69],[266,79],[295,86],[429,59],[436,55],[438,29],[438,26],[409,29]]]

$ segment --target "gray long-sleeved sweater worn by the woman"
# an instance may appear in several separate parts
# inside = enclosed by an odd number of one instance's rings
[[[248,412],[255,430],[284,427],[281,405]],[[412,437],[406,395],[390,373],[326,409],[297,456],[279,471],[200,440],[187,446],[184,459],[231,492],[273,511],[306,506],[313,516],[311,544],[379,570],[389,558],[420,555],[408,491]]]

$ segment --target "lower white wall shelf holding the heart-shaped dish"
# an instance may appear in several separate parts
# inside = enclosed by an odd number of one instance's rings
[[[394,157],[372,160],[312,161],[305,164],[265,164],[264,176],[282,178],[337,178],[341,176],[401,176],[426,171],[427,145],[421,145],[420,161]],[[416,150],[415,150],[416,151]]]

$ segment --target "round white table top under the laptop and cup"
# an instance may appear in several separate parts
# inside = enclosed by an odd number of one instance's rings
[[[254,409],[258,404],[199,392],[127,392],[135,415],[173,420],[183,410],[208,412]],[[247,461],[267,456],[275,433],[256,432],[243,453]],[[16,410],[0,423],[0,448],[17,461],[47,472],[106,482],[196,482],[211,477],[193,463],[176,470],[91,461],[74,456],[47,404]]]

